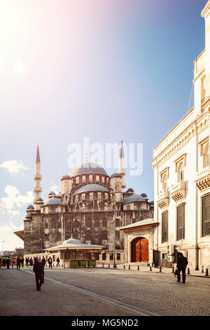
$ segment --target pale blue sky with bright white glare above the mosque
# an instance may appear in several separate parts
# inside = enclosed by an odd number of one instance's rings
[[[105,154],[106,144],[120,143],[120,136],[134,145],[135,157],[137,145],[143,148],[142,171],[133,176],[126,169],[126,189],[153,200],[153,147],[193,107],[193,61],[204,49],[206,3],[0,0],[4,250],[23,246],[13,232],[23,229],[34,199],[37,143],[43,200],[60,191],[60,178],[71,171],[73,143],[84,154],[88,138]],[[117,170],[105,169],[109,175]]]

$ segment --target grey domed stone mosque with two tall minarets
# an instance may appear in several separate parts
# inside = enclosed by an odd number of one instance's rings
[[[41,198],[40,156],[37,147],[34,176],[34,205],[27,207],[24,220],[25,255],[61,245],[71,236],[83,244],[104,246],[94,253],[98,262],[124,263],[124,234],[118,228],[153,218],[153,202],[146,194],[125,190],[123,141],[120,144],[119,171],[109,176],[98,164],[85,163],[61,179],[61,192]]]

